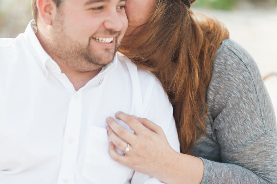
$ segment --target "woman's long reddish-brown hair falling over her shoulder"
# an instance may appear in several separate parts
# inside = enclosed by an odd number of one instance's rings
[[[195,15],[180,0],[156,3],[149,21],[126,36],[119,51],[161,81],[173,105],[181,152],[190,154],[206,131],[205,92],[215,52],[229,33],[219,21]],[[128,40],[131,44],[124,45]]]

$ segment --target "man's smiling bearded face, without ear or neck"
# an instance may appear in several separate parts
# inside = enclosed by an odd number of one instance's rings
[[[86,72],[110,63],[128,27],[120,0],[64,0],[50,30],[53,52]]]

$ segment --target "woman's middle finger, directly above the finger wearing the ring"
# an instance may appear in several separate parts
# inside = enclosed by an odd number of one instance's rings
[[[129,144],[132,144],[135,140],[135,135],[126,130],[124,127],[119,125],[114,118],[108,117],[106,119],[108,125],[112,129],[113,132],[115,132],[118,136],[120,136],[122,139],[126,140]],[[112,134],[113,135],[113,134]],[[120,139],[120,138],[119,138]],[[123,141],[124,142],[124,141]],[[120,148],[119,148],[120,149]]]

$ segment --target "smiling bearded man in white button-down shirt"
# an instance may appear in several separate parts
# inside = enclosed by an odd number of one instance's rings
[[[124,4],[32,0],[25,33],[0,39],[1,184],[160,183],[108,153],[106,118],[118,111],[157,122],[179,151],[162,86],[116,53]]]

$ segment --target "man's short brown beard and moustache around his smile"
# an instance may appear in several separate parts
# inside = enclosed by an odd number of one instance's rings
[[[81,44],[66,35],[63,28],[62,10],[58,12],[56,19],[53,21],[53,28],[49,40],[51,52],[66,67],[77,72],[94,71],[109,64],[120,46],[119,43],[122,41],[118,42],[118,36],[116,36],[113,40],[115,43],[113,48],[106,48],[104,53],[93,52],[95,49],[90,46],[90,41],[93,41],[92,36],[88,38],[88,44]],[[119,32],[113,30],[106,30],[105,33],[101,34],[107,36],[120,35]]]

